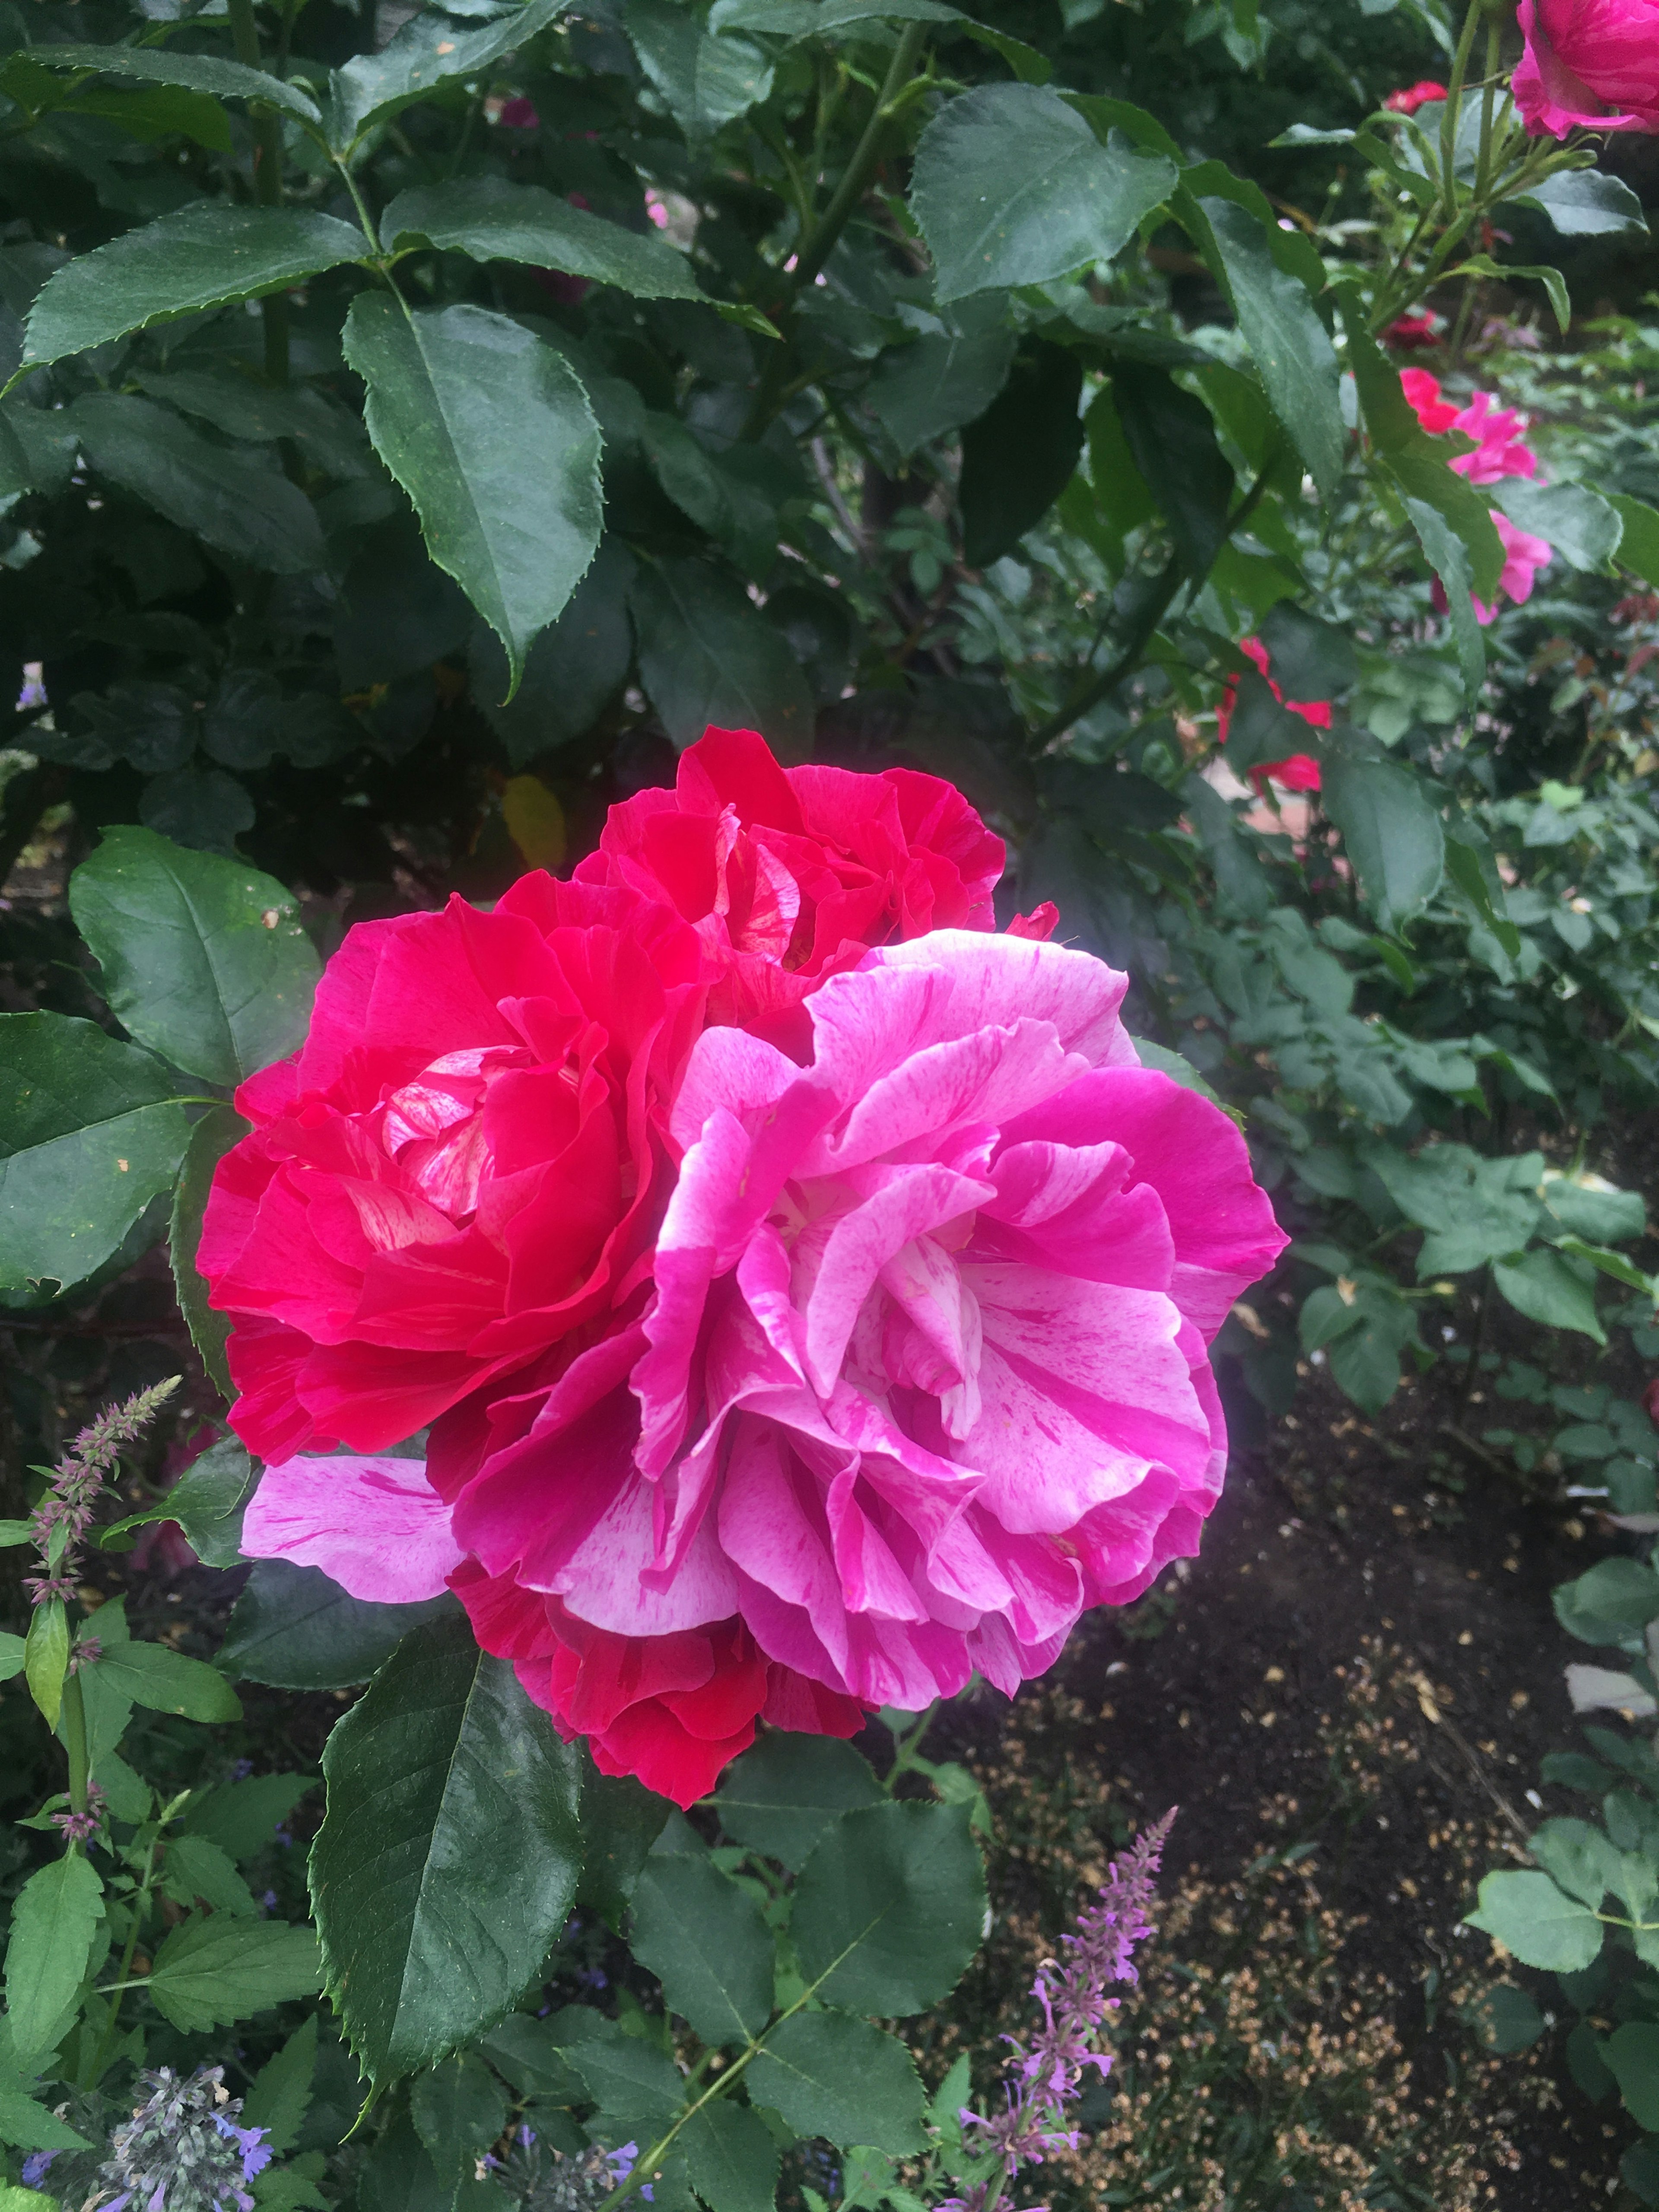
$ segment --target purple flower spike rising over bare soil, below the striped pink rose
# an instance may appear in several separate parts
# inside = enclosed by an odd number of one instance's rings
[[[989,2119],[967,2108],[960,2115],[967,2146],[1000,2152],[1002,2172],[993,2172],[967,2197],[945,2199],[940,2212],[991,2212],[1004,2183],[1022,2166],[1042,2166],[1057,2150],[1077,2148],[1077,2130],[1066,2126],[1066,2106],[1075,2101],[1091,2066],[1102,2079],[1113,2068],[1113,2053],[1102,2048],[1099,2033],[1119,2000],[1106,1991],[1113,1982],[1139,1980],[1135,1944],[1152,1933],[1152,1876],[1172,1820],[1175,1807],[1113,1860],[1099,1905],[1086,1905],[1075,1933],[1062,1936],[1064,1962],[1044,1960],[1037,1969],[1031,1995],[1042,2006],[1042,2026],[1031,2037],[1002,2037],[1013,2046],[1004,2068],[1004,2108]]]

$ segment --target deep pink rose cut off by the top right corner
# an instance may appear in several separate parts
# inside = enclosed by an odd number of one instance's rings
[[[1513,93],[1533,137],[1659,131],[1659,0],[1522,0]]]

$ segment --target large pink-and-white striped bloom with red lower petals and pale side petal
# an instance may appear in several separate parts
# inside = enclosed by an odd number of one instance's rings
[[[604,1772],[690,1803],[757,1719],[852,1732],[1197,1551],[1208,1345],[1283,1237],[1232,1121],[1139,1066],[1126,978],[956,929],[708,1029],[653,1290],[476,1391],[418,1462],[290,1460],[246,1551],[445,1582]]]

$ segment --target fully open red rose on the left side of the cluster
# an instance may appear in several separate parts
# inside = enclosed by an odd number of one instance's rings
[[[708,975],[666,907],[544,874],[349,931],[201,1232],[252,1451],[378,1451],[639,1303]]]

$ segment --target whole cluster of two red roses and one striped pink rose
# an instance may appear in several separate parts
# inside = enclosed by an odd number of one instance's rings
[[[1011,1692],[1192,1553],[1283,1237],[1126,978],[995,933],[1002,858],[947,783],[710,730],[568,883],[352,929],[201,1239],[246,1551],[451,1588],[681,1803],[759,1719]]]

